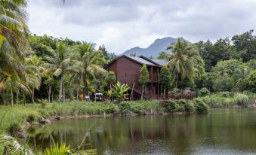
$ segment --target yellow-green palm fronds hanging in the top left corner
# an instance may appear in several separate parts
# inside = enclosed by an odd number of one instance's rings
[[[0,42],[5,41],[20,55],[27,47],[28,26],[26,25],[27,13],[26,0],[1,0],[0,1]]]

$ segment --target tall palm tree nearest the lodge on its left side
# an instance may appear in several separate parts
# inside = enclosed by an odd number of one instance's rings
[[[102,53],[95,50],[94,44],[82,42],[73,53],[79,72],[73,78],[79,78],[84,83],[84,93],[88,94],[88,81],[97,79],[100,74],[106,74],[106,70],[101,66],[104,62]]]

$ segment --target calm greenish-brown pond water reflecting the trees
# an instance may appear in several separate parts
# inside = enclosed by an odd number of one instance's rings
[[[213,109],[205,115],[76,118],[31,129],[39,147],[55,141],[97,154],[256,154],[256,109]]]

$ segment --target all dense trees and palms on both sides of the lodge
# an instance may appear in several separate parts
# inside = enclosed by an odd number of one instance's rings
[[[108,90],[115,77],[104,65],[116,56],[104,45],[96,49],[87,41],[32,35],[26,25],[26,1],[4,1],[1,6],[1,104],[61,102],[78,99],[79,93],[111,96]],[[168,59],[159,78],[163,90],[256,92],[253,30],[215,43],[192,44],[179,38],[168,50],[172,53],[159,55]]]

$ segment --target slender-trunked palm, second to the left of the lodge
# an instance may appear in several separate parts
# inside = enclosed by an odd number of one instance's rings
[[[59,43],[57,44],[57,49],[52,51],[53,57],[45,56],[45,66],[51,70],[55,77],[60,77],[60,91],[58,102],[61,101],[63,97],[63,78],[69,72],[78,72],[76,66],[72,65],[72,60],[70,58],[70,48],[67,44]]]

